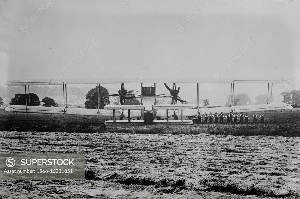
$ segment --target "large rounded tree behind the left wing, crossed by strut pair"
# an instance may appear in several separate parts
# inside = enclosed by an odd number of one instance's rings
[[[98,87],[92,88],[85,95],[84,107],[86,109],[98,109]],[[110,93],[108,90],[100,86],[100,109],[104,109],[104,106],[110,103]]]

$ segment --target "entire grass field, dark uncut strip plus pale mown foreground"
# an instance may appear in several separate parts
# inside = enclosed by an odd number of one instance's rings
[[[95,116],[0,112],[1,152],[87,154],[85,181],[0,181],[0,198],[299,198],[300,113],[265,115],[266,124],[105,127]]]

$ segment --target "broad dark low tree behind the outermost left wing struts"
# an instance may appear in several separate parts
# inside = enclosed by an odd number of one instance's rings
[[[30,96],[30,104],[29,104],[29,96]],[[30,94],[23,94],[17,93],[15,97],[11,99],[9,105],[26,105],[26,98],[27,98],[27,105],[29,106],[40,106],[41,101],[35,93]]]

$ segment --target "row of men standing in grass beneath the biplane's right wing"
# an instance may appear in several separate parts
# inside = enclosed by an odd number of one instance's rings
[[[212,123],[213,118],[214,118],[214,123],[218,123],[218,118],[220,118],[220,123],[224,123],[223,122],[224,118],[226,118],[227,123],[233,123],[232,117],[233,117],[234,123],[236,123],[238,117],[240,117],[240,123],[241,124],[247,124],[249,115],[248,115],[247,112],[245,114],[243,114],[243,112],[241,112],[240,114],[230,112],[230,113],[227,113],[227,115],[223,114],[223,112],[221,112],[220,115],[218,115],[217,112],[215,114],[212,114],[210,112],[209,115],[204,113],[204,123],[208,123],[208,118],[209,118],[209,123]],[[202,115],[200,113],[198,113],[198,122],[199,123],[201,123],[201,118],[202,118]],[[244,121],[244,118],[245,118],[245,121]],[[253,123],[256,123],[257,122],[256,113],[253,114],[252,118],[253,118]],[[265,115],[263,113],[261,113],[260,123],[264,123],[264,119],[265,119]]]

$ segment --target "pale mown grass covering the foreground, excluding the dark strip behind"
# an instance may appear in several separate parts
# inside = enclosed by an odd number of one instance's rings
[[[300,197],[298,137],[0,134],[1,152],[86,153],[86,180],[0,181],[5,198]]]

